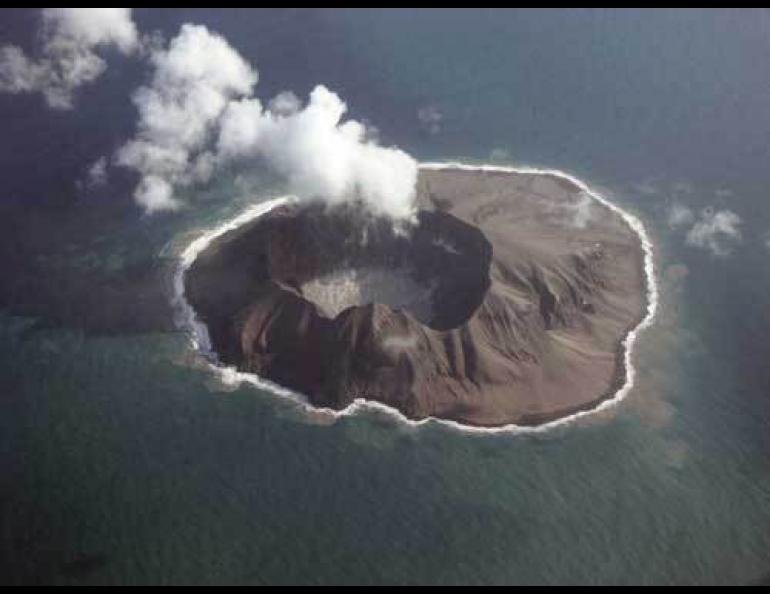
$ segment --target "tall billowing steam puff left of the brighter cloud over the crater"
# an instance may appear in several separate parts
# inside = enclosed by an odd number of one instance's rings
[[[136,137],[116,155],[138,171],[134,193],[148,212],[174,209],[175,186],[208,180],[215,156],[208,150],[228,104],[251,94],[257,73],[224,38],[206,27],[184,25],[167,49],[152,51],[154,74],[134,93]]]

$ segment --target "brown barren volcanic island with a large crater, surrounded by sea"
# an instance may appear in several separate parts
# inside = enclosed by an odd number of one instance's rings
[[[184,277],[219,361],[344,409],[538,425],[624,384],[642,238],[549,173],[420,170],[416,221],[292,202],[214,239]]]

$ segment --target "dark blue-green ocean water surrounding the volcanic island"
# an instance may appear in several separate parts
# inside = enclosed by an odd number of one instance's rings
[[[132,131],[120,63],[72,113],[0,96],[0,581],[751,584],[770,575],[770,15],[145,11],[224,34],[260,95],[322,82],[421,160],[565,170],[639,216],[661,303],[617,407],[536,435],[332,421],[197,357],[168,303],[201,229],[76,181]],[[4,12],[29,44],[34,13]],[[119,66],[118,66],[119,64]],[[420,122],[420,111],[441,114]],[[725,257],[667,224],[730,209]]]

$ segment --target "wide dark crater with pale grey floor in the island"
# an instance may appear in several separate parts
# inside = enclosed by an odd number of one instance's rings
[[[399,228],[355,207],[313,205],[266,225],[268,276],[324,318],[379,305],[447,330],[473,315],[489,287],[489,242],[451,214],[421,211]]]

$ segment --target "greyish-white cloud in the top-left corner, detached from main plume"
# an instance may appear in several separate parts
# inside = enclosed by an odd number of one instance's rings
[[[0,92],[39,92],[50,107],[71,109],[77,88],[106,68],[98,48],[129,54],[138,46],[130,8],[45,8],[37,58],[14,45],[0,48]]]

